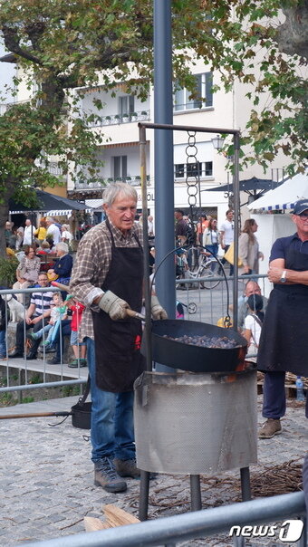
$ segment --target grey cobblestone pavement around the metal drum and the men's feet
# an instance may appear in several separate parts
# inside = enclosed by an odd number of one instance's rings
[[[53,399],[0,408],[0,415],[69,410],[75,403],[76,398]],[[258,406],[260,411],[260,397]],[[0,421],[2,546],[56,537],[61,546],[61,536],[84,531],[84,516],[101,517],[103,504],[117,504],[138,514],[140,483],[129,480],[124,494],[107,494],[94,486],[90,443],[83,438],[88,431],[72,427],[71,417],[58,427],[49,426],[58,421],[55,417]],[[259,423],[262,421],[259,414]],[[251,474],[261,473],[265,465],[283,464],[294,458],[302,461],[308,450],[306,421],[303,405],[289,405],[283,434],[259,442],[258,464],[251,467]],[[240,498],[238,470],[216,477],[202,475],[201,480],[203,508],[233,503]],[[149,518],[189,511],[189,495],[188,476],[159,475],[150,483]],[[185,545],[232,544],[226,534],[185,542]]]

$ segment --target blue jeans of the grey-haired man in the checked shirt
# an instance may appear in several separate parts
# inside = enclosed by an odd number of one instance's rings
[[[111,393],[97,387],[94,341],[88,337],[85,341],[91,378],[91,460],[97,462],[102,457],[131,459],[135,457],[134,392]]]

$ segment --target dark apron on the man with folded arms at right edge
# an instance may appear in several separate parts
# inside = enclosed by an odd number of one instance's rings
[[[285,268],[308,270],[308,254],[289,248]],[[274,285],[265,312],[257,368],[308,376],[308,285]]]

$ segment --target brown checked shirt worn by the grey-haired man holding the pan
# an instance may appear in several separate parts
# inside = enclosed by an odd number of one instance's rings
[[[111,221],[110,221],[111,224]],[[138,247],[142,245],[142,226],[135,223],[124,235],[119,228],[111,224],[111,232],[116,247]],[[101,285],[106,279],[111,265],[111,233],[106,221],[94,226],[83,235],[78,245],[77,256],[72,268],[70,292],[86,309],[82,313],[80,341],[85,336],[94,339],[91,310],[99,312],[99,306],[91,302],[103,294]],[[125,272],[123,272],[125,275]]]

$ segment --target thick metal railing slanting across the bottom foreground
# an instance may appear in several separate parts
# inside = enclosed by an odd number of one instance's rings
[[[301,519],[303,524],[288,523],[290,519]],[[305,518],[305,503],[303,492],[294,494],[275,495],[268,498],[256,499],[249,502],[224,505],[213,509],[206,509],[194,513],[178,514],[159,518],[155,521],[130,524],[109,530],[94,533],[79,533],[43,542],[27,543],[28,547],[152,547],[164,545],[174,547],[178,542],[210,537],[215,534],[226,533],[230,542],[236,546],[245,545],[245,537],[249,535],[245,529],[245,536],[241,535],[244,526],[251,530],[251,538],[257,538],[260,524],[274,524],[268,528],[268,537],[273,541],[281,539],[281,544],[292,544],[294,547],[307,546],[307,531]],[[236,529],[232,529],[235,527]],[[255,530],[255,538],[254,538]],[[236,533],[236,535],[233,535]],[[244,531],[243,531],[244,532]],[[266,528],[263,526],[263,539]],[[294,537],[300,534],[294,541]],[[231,534],[231,535],[230,535]],[[292,535],[292,537],[291,537]],[[288,542],[288,537],[291,543]],[[232,539],[233,538],[233,539]],[[251,539],[250,538],[250,539]],[[204,542],[206,545],[207,542]],[[224,542],[225,544],[225,542]],[[254,542],[254,544],[257,544]]]

